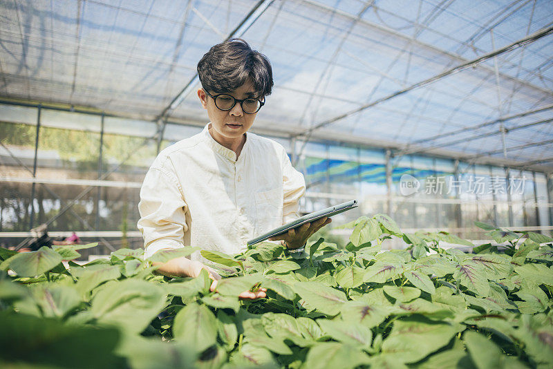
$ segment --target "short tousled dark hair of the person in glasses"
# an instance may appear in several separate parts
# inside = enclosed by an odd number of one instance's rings
[[[212,46],[198,61],[198,77],[206,91],[227,93],[250,77],[259,97],[272,92],[272,68],[265,55],[252,50],[243,39],[229,39]]]

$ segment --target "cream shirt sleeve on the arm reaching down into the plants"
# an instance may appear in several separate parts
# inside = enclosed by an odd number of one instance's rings
[[[138,229],[144,238],[144,258],[160,249],[184,247],[187,205],[174,173],[151,167],[140,189]]]

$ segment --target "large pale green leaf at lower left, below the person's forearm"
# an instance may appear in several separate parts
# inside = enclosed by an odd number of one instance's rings
[[[98,324],[115,325],[130,334],[139,334],[164,306],[162,287],[126,279],[106,285],[97,292],[90,310]]]

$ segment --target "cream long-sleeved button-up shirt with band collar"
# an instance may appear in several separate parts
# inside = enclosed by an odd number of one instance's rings
[[[247,133],[236,159],[208,128],[161,151],[144,178],[138,229],[146,258],[187,245],[236,254],[298,217],[306,184],[281,144]],[[205,261],[198,252],[191,258]]]

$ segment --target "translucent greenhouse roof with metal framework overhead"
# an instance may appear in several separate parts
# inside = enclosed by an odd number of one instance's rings
[[[550,0],[2,1],[0,97],[205,124],[196,63],[269,57],[261,133],[553,170]]]

